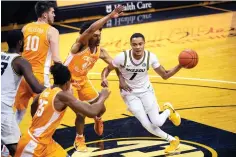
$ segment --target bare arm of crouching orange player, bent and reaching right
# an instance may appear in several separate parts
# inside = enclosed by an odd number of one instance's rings
[[[87,117],[94,118],[104,107],[104,102],[109,95],[110,91],[108,91],[108,89],[102,89],[98,101],[91,105],[87,102],[77,100],[71,93],[68,92],[58,93],[57,98],[60,102],[66,106],[69,106],[76,114],[83,114]]]

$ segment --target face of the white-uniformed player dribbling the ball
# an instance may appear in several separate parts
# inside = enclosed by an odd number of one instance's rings
[[[141,37],[133,38],[130,44],[131,44],[133,53],[136,56],[142,56],[144,54],[145,41],[143,40],[143,38]]]

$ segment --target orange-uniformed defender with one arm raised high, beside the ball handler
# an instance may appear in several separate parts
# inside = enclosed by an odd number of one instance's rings
[[[78,97],[82,101],[89,103],[96,102],[99,93],[95,90],[91,82],[88,80],[87,74],[99,58],[107,64],[111,64],[112,58],[108,55],[104,48],[99,46],[101,40],[102,26],[111,18],[118,17],[123,11],[122,6],[115,8],[110,14],[101,18],[94,23],[85,23],[80,30],[81,36],[71,48],[71,53],[65,61],[72,75],[72,86],[76,89]],[[119,76],[119,75],[118,75]],[[103,122],[101,116],[105,112],[105,108],[94,118],[94,130],[98,135],[103,134]],[[74,147],[77,151],[87,151],[85,145],[84,132],[85,116],[77,115],[76,138]]]

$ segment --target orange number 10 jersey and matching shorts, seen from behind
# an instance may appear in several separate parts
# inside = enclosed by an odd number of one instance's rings
[[[52,53],[47,33],[51,26],[47,23],[32,22],[24,27],[24,52],[23,57],[32,65],[33,73],[40,84],[50,86],[49,68],[51,66]],[[29,85],[22,79],[15,101],[17,110],[24,110],[28,106],[29,99],[35,94]]]

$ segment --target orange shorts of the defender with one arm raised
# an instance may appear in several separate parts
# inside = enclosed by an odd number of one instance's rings
[[[92,102],[99,96],[97,90],[94,88],[90,80],[87,80],[82,86],[79,86],[72,81],[72,87],[73,91],[77,93],[77,95],[75,96],[78,97],[81,101]]]

